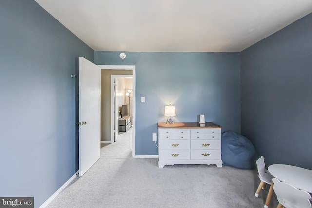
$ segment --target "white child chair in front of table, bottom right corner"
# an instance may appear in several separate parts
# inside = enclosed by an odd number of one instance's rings
[[[273,178],[273,189],[279,202],[277,208],[311,208],[310,194]]]

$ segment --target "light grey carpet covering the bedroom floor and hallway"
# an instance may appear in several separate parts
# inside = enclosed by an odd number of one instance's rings
[[[215,165],[158,168],[157,158],[132,158],[132,131],[101,148],[101,158],[48,208],[263,208],[256,170]],[[151,138],[148,138],[151,139]],[[273,194],[270,208],[276,207]]]

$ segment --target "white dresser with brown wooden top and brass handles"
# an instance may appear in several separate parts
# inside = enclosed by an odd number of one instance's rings
[[[216,164],[222,167],[221,126],[207,122],[158,123],[158,166]]]

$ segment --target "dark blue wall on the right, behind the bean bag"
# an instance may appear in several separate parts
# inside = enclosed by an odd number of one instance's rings
[[[241,132],[268,165],[312,169],[312,14],[241,53]]]

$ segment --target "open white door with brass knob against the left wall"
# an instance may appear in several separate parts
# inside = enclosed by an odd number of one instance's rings
[[[79,176],[100,158],[101,69],[79,57]]]

